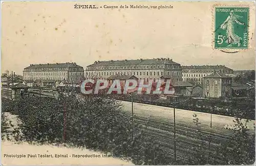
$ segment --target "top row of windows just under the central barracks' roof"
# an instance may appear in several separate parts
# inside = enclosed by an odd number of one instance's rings
[[[132,69],[132,68],[163,68],[164,65],[139,65],[139,66],[96,66],[87,69]],[[166,68],[180,68],[180,65],[166,65]]]

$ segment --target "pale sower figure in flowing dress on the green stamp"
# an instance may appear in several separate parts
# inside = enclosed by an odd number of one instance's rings
[[[238,18],[241,17],[242,16],[233,14],[233,10],[231,10],[229,16],[221,25],[221,29],[226,30],[226,43],[229,44],[228,46],[232,46],[232,44],[238,44],[238,46],[240,46],[241,44],[242,38],[234,33],[234,23],[238,23],[239,25],[245,25],[245,23],[242,23],[238,20]]]

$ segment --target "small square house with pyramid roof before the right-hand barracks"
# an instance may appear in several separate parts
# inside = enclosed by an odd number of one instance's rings
[[[204,77],[204,95],[209,98],[231,97],[232,78],[225,74],[214,72]]]

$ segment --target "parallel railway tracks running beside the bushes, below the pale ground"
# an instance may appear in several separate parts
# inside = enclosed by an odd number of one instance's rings
[[[164,146],[166,152],[174,154],[174,124],[141,116],[135,116],[134,122],[146,127],[140,130],[145,137],[154,137],[153,141]],[[206,140],[207,136],[211,137],[210,144]],[[201,146],[204,153],[221,161],[223,157],[215,155],[214,151],[217,147],[228,144],[228,138],[230,137],[230,135],[202,129],[198,132],[195,127],[176,124],[176,153],[179,158],[188,159],[181,156],[193,156],[196,154],[194,148]],[[231,161],[237,163],[233,159]]]

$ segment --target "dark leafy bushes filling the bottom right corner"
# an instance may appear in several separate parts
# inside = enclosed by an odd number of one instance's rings
[[[199,118],[196,114],[194,123],[197,126],[197,132],[202,137],[202,143],[208,143],[209,147],[204,144],[195,147],[195,153],[189,158],[189,163],[192,164],[252,164],[255,161],[255,133],[249,134],[247,128],[248,120],[245,123],[241,122],[241,118],[236,117],[235,130],[230,138],[225,143],[220,144],[213,150],[210,150],[211,137],[204,137],[200,130]],[[255,129],[255,128],[254,128]]]

